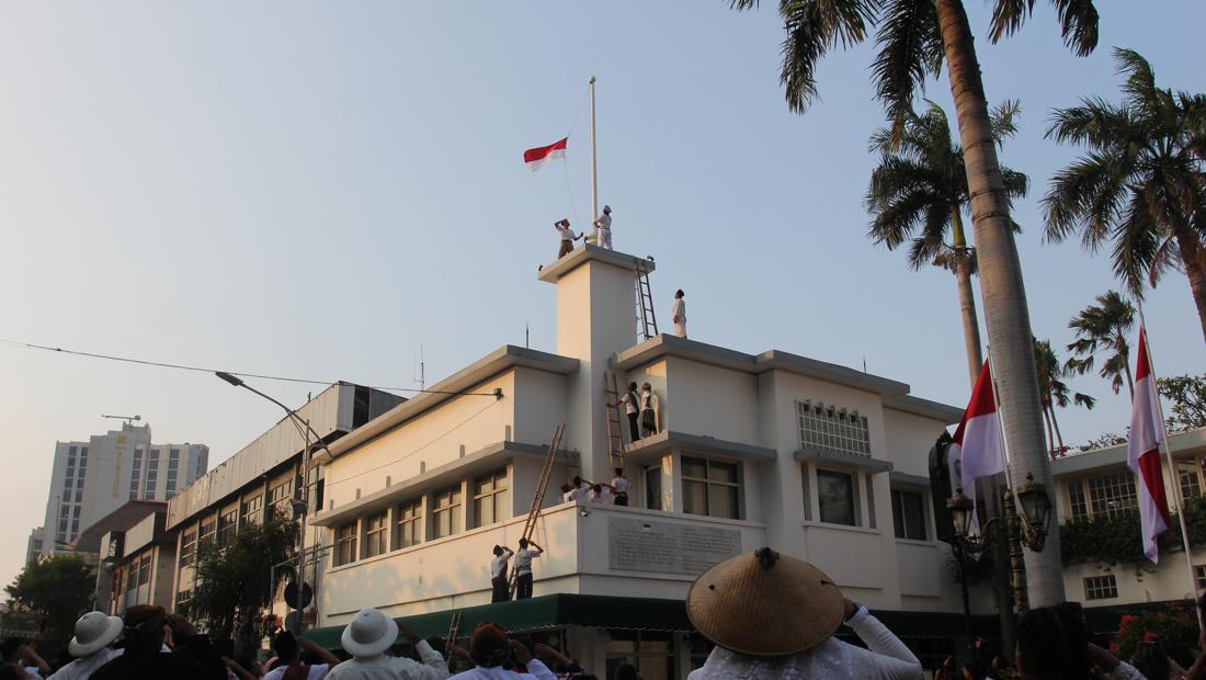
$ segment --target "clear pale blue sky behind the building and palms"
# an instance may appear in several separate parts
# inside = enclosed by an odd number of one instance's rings
[[[1101,46],[1061,43],[1040,2],[988,40],[968,1],[990,102],[1020,99],[1003,164],[1031,323],[1056,348],[1069,320],[1118,283],[1105,254],[1043,242],[1038,199],[1078,150],[1043,139],[1054,107],[1117,100],[1112,46],[1158,83],[1206,90],[1196,0],[1100,2]],[[590,219],[587,113],[598,77],[601,203],[615,247],[652,254],[668,320],[691,336],[778,348],[967,401],[954,279],[912,271],[866,238],[862,195],[884,117],[872,52],[835,51],[821,100],[788,110],[775,2],[0,2],[0,339],[320,381],[415,387],[503,344],[555,350],[550,224]],[[949,86],[926,96],[952,110]],[[531,174],[526,148],[569,135]],[[1201,373],[1185,279],[1146,305],[1155,369]],[[1066,352],[1061,352],[1066,353]],[[216,465],[276,422],[275,406],[204,373],[0,344],[0,584],[41,523],[55,440],[139,414],[154,440],[204,442]],[[1125,429],[1129,403],[1059,414],[1065,440]],[[257,381],[299,405],[320,386]]]

